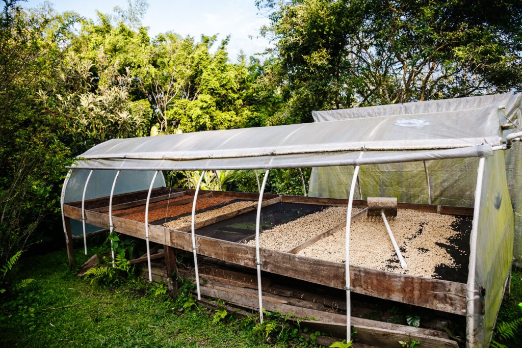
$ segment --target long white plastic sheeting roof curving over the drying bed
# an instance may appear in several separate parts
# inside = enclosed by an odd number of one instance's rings
[[[414,104],[422,103],[427,102]],[[489,155],[491,147],[502,141],[499,105],[471,106],[460,108],[466,110],[395,112],[391,116],[383,112],[377,117],[334,122],[112,139],[80,155],[75,169],[271,169]]]

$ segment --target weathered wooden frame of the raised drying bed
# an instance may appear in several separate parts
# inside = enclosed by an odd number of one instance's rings
[[[190,195],[193,190],[185,190]],[[208,193],[209,191],[204,191]],[[234,197],[242,199],[257,199],[257,194],[237,192],[210,191],[213,196]],[[264,205],[276,202],[295,202],[330,206],[345,206],[346,199],[314,198],[301,196],[265,195]],[[364,207],[366,201],[355,200],[354,207]],[[239,213],[255,209],[244,208],[240,212],[232,212],[206,221],[196,223],[196,229],[231,218]],[[472,209],[462,207],[445,207],[434,205],[419,205],[399,203],[399,208],[415,209],[420,211],[472,215]],[[250,210],[249,210],[250,209]],[[66,230],[70,235],[68,219],[81,220],[81,209],[69,205],[64,206]],[[86,210],[86,222],[108,229],[109,216],[97,211]],[[114,229],[118,233],[145,239],[145,225],[137,221],[113,217]],[[189,229],[186,229],[189,231]],[[318,231],[323,232],[323,231]],[[163,226],[149,225],[150,241],[185,251],[192,251],[191,234],[187,231],[171,230]],[[69,238],[72,241],[72,238]],[[227,261],[236,265],[256,268],[255,247],[245,244],[222,241],[215,238],[196,235],[198,254]],[[345,265],[343,263],[320,260],[316,258],[283,253],[280,251],[261,248],[261,266],[263,271],[284,275],[287,277],[314,282],[336,289],[345,289]],[[72,243],[68,244],[69,263],[74,261]],[[73,255],[73,256],[71,256]],[[416,277],[408,274],[398,274],[350,266],[350,278],[354,285],[353,292],[364,295],[389,299],[401,303],[431,308],[458,315],[465,315],[466,284],[445,280]]]

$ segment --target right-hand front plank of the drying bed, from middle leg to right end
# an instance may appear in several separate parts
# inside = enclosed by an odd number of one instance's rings
[[[172,246],[192,250],[188,233],[170,230]],[[196,236],[200,255],[255,268],[255,247]],[[262,270],[344,289],[345,265],[302,255],[261,249]],[[353,292],[425,308],[465,315],[466,284],[416,277],[357,266],[350,267]]]

